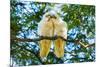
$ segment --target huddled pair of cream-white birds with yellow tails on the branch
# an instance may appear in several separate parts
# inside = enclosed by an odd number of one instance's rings
[[[55,11],[49,11],[43,15],[43,18],[38,24],[38,35],[44,37],[60,36],[64,39],[67,39],[67,29],[67,23],[64,22]],[[65,41],[63,39],[43,39],[39,41],[41,58],[48,56],[52,42],[54,45],[54,54],[56,57],[61,58],[64,56]]]

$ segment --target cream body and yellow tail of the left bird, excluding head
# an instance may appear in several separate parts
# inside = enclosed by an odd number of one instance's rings
[[[38,24],[38,34],[40,36],[52,36],[52,24],[50,22],[41,21]],[[44,58],[47,57],[50,47],[51,47],[51,40],[41,40],[39,41],[40,45],[40,57]]]

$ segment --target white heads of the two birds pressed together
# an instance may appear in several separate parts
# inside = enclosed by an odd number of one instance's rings
[[[59,16],[57,12],[52,10],[52,11],[46,12],[43,16],[43,19],[45,19],[46,21],[49,21],[51,19],[58,20]]]

